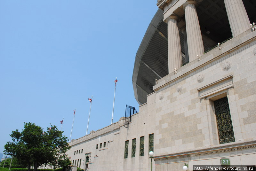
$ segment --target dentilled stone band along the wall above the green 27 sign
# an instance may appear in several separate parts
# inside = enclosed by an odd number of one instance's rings
[[[194,151],[187,151],[187,152],[180,152],[180,153],[173,153],[169,155],[163,155],[163,156],[155,156],[154,161],[156,164],[163,164],[165,162],[172,163],[172,162],[182,162],[182,161],[190,161],[192,158],[196,158],[198,160],[204,158],[204,159],[210,159],[210,158],[216,158],[216,154],[219,154],[220,157],[222,157],[221,153],[225,153],[224,155],[227,156],[227,152],[230,153],[236,153],[236,155],[239,154],[238,151],[241,151],[241,155],[245,153],[255,153],[255,147],[256,147],[256,140],[247,141],[247,142],[234,142],[234,143],[228,143],[228,144],[221,144],[221,145],[215,145],[211,146],[210,148],[203,148],[198,149]],[[243,151],[243,152],[242,152]],[[231,156],[232,154],[230,154]],[[200,159],[199,159],[200,156]],[[205,157],[203,157],[205,156]],[[211,157],[212,156],[212,157]],[[163,161],[168,160],[168,161]]]

